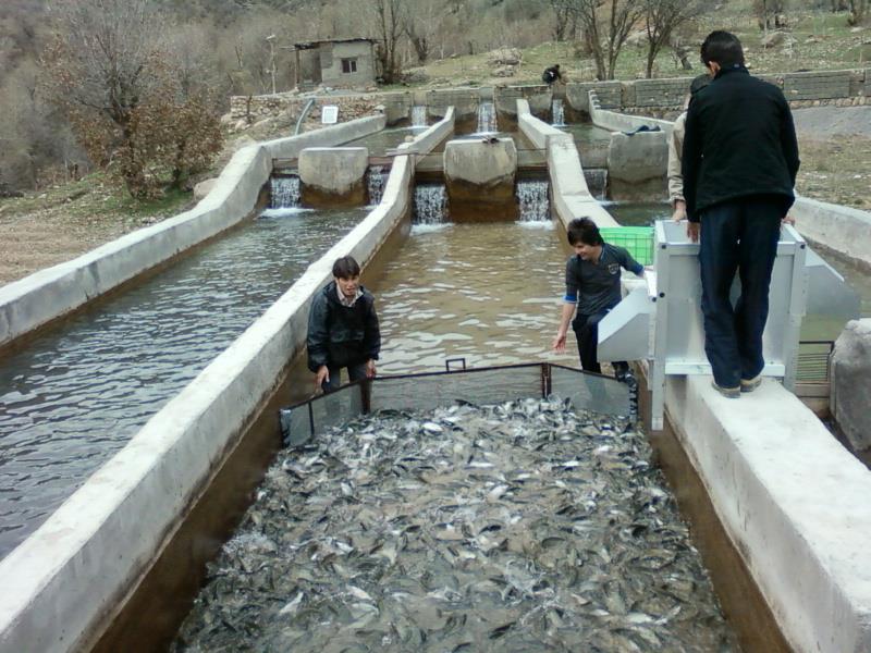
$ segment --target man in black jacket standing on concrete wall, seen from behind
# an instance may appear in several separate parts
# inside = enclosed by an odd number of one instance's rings
[[[728,32],[712,32],[701,60],[713,81],[689,103],[682,174],[687,236],[699,241],[704,352],[714,389],[756,390],[781,220],[795,201],[798,141],[780,88],[751,76]],[[739,270],[741,295],[729,288]]]

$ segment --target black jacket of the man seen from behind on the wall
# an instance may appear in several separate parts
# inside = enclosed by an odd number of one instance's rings
[[[744,66],[721,70],[689,104],[682,174],[690,222],[716,204],[774,195],[795,201],[798,141],[780,88]]]

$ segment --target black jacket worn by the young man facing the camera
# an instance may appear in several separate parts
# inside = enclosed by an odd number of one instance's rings
[[[363,296],[354,306],[342,306],[335,282],[331,281],[311,300],[308,313],[308,369],[322,365],[348,367],[369,359],[381,350],[381,331],[375,311],[375,297],[360,286]]]

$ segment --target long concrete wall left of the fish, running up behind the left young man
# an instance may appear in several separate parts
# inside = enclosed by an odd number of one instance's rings
[[[427,151],[418,141],[400,149]],[[0,652],[74,651],[99,634],[304,346],[309,303],[332,262],[369,261],[410,210],[413,172],[412,157],[396,157],[381,204],[0,560]]]

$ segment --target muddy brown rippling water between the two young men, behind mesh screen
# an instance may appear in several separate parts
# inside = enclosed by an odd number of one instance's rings
[[[567,248],[552,222],[414,226],[377,280],[384,343],[380,371],[552,360],[578,367],[569,337],[552,353]]]

